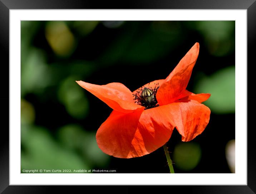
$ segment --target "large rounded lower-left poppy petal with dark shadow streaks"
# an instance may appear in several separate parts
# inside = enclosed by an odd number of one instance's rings
[[[128,114],[114,110],[97,131],[99,148],[118,158],[140,157],[157,150],[174,128],[172,120],[162,116],[165,109],[158,106]]]

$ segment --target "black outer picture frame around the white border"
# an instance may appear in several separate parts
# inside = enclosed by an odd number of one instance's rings
[[[168,186],[170,192],[179,190],[189,193],[256,193],[256,149],[255,127],[252,123],[256,94],[252,74],[256,72],[254,56],[256,48],[256,2],[255,0],[133,0],[124,4],[122,1],[88,0],[0,0],[0,56],[1,56],[1,129],[0,141],[0,193],[51,193],[54,190],[71,193],[81,186],[10,186],[9,185],[9,10],[10,9],[246,9],[247,10],[247,185],[211,185],[211,186]],[[95,186],[87,186],[95,187]],[[97,190],[105,186],[96,186]],[[166,186],[167,187],[167,186]],[[148,187],[153,192],[157,188]],[[87,188],[95,189],[95,188]],[[108,186],[112,192],[134,191],[138,186]],[[164,188],[163,188],[164,189]]]

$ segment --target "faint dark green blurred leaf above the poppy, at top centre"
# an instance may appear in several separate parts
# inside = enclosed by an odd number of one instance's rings
[[[139,35],[137,28],[140,28],[139,23],[127,28],[122,36],[113,40],[100,59],[108,64],[118,60],[131,65],[148,64],[166,56],[170,49],[182,42],[182,30],[176,23],[153,21]]]

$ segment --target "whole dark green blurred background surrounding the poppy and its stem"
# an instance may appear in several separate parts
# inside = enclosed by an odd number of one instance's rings
[[[166,78],[196,42],[187,89],[211,93],[211,118],[191,142],[174,130],[174,170],[235,172],[235,21],[21,21],[21,172],[168,173],[162,147],[131,159],[104,154],[95,134],[112,110],[75,80],[133,91]]]

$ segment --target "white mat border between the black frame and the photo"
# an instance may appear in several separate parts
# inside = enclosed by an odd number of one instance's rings
[[[20,20],[236,20],[236,173],[21,174]],[[10,10],[10,185],[247,185],[246,72],[247,10]]]

